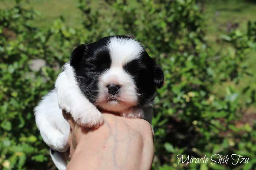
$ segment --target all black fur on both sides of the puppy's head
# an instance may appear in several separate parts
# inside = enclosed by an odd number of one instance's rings
[[[74,68],[76,80],[83,94],[94,103],[98,95],[98,78],[110,68],[111,57],[107,43],[111,36],[91,44],[78,46],[71,54],[70,65]],[[118,36],[129,39],[127,36]],[[157,88],[162,87],[164,76],[161,67],[154,62],[146,51],[138,59],[123,66],[132,75],[139,97],[139,105],[152,99]]]

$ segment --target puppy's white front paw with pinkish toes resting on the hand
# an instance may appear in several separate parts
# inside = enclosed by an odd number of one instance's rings
[[[75,121],[81,126],[88,128],[98,128],[104,123],[103,116],[97,108],[88,109],[82,114],[79,114]]]

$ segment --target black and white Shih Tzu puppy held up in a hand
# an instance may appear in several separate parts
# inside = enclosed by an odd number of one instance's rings
[[[134,39],[109,36],[82,44],[64,64],[55,89],[35,108],[37,127],[50,148],[63,152],[69,148],[69,124],[62,109],[89,128],[104,122],[99,110],[151,123],[155,92],[163,81],[161,67]]]

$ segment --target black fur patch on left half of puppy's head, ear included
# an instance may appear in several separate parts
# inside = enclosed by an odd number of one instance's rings
[[[111,64],[106,43],[106,39],[101,39],[95,43],[81,44],[71,54],[70,65],[75,70],[76,81],[91,103],[97,99],[99,76]]]

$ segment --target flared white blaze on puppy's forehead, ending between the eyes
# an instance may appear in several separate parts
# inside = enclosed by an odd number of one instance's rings
[[[122,67],[136,59],[144,51],[142,45],[133,39],[111,37],[108,44],[111,67]]]

